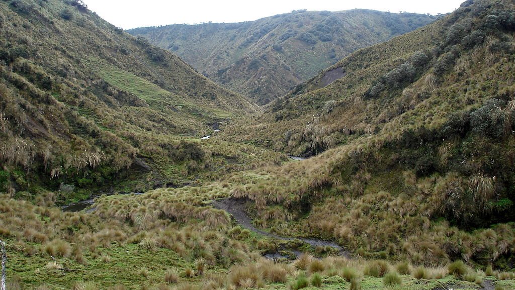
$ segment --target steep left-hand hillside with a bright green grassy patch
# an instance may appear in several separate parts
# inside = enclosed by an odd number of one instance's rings
[[[81,2],[2,1],[0,35],[0,190],[96,184],[130,166],[177,182],[201,159],[179,153],[196,146],[179,136],[198,139],[212,123],[256,112]],[[32,176],[14,182],[15,172]]]

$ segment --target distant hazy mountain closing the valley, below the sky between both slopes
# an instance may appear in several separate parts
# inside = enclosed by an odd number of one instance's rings
[[[267,104],[359,48],[384,42],[434,16],[372,10],[298,10],[243,23],[128,30],[169,49],[221,86]]]

